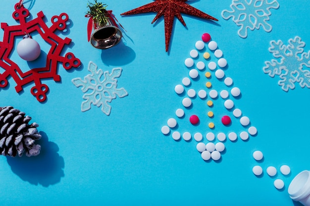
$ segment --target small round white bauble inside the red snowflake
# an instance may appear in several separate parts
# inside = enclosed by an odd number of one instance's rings
[[[25,35],[24,39],[17,44],[17,53],[20,58],[26,61],[33,61],[40,56],[41,48],[37,41],[30,35]]]

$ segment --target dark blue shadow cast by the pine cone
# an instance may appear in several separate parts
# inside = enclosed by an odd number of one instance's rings
[[[41,152],[38,156],[26,157],[24,154],[21,158],[6,157],[6,160],[22,180],[48,187],[60,182],[64,176],[64,160],[58,154],[58,146],[49,141],[46,133],[40,131],[40,134],[42,138],[38,140],[38,144],[41,145]]]

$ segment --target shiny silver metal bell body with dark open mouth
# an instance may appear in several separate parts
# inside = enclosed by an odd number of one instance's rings
[[[91,44],[95,48],[107,49],[116,45],[122,39],[122,32],[115,26],[107,25],[94,31]]]

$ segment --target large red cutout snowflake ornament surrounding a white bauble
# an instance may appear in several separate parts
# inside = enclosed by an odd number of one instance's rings
[[[16,21],[19,21],[19,25],[8,26],[6,23],[1,23],[4,34],[3,41],[0,41],[0,67],[5,71],[0,74],[0,87],[7,86],[8,77],[13,78],[16,82],[16,92],[22,91],[25,84],[34,82],[35,86],[31,88],[31,93],[39,102],[43,102],[47,98],[46,95],[49,87],[43,84],[41,80],[52,78],[55,82],[59,82],[60,76],[57,74],[58,63],[61,62],[64,69],[69,70],[72,67],[79,67],[81,61],[71,52],[66,53],[64,57],[60,54],[64,46],[71,42],[71,39],[65,38],[63,40],[54,33],[56,30],[62,31],[66,28],[66,22],[69,19],[66,13],[53,16],[51,19],[52,26],[49,28],[43,20],[45,16],[42,11],[37,14],[37,18],[26,22],[30,15],[29,10],[22,4],[20,6],[18,4],[15,4],[15,11],[12,16]],[[31,34],[32,32],[38,32],[47,43],[51,44],[51,49],[47,54],[45,67],[31,69],[23,73],[18,65],[9,59],[9,56],[14,48],[14,38],[16,36],[24,36],[25,33]]]

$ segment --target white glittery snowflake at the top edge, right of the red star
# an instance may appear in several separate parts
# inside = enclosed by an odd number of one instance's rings
[[[270,9],[279,8],[279,3],[277,0],[272,0],[270,3],[267,0],[233,0],[230,8],[230,11],[222,11],[223,19],[232,18],[237,26],[241,26],[238,35],[246,38],[248,29],[253,31],[261,26],[265,32],[272,30],[271,25],[267,23],[271,15]]]

